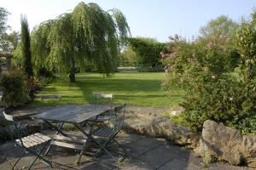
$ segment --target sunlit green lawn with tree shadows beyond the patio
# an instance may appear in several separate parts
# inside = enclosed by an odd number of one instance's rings
[[[32,105],[93,104],[94,94],[113,94],[113,102],[153,107],[175,106],[183,99],[182,91],[167,92],[160,87],[164,73],[116,73],[114,77],[102,77],[97,73],[76,75],[77,82],[67,77],[57,77],[40,94],[61,94],[62,99],[35,99]],[[40,95],[38,94],[38,95]]]

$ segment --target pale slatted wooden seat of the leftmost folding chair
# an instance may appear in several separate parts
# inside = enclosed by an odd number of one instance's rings
[[[26,148],[30,148],[39,144],[44,144],[45,142],[48,142],[50,138],[42,133],[34,133],[32,135],[21,138],[21,140]],[[16,139],[16,143],[22,146],[20,139]]]

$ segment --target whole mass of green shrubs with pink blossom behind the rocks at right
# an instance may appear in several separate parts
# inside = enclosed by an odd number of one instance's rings
[[[204,46],[202,42],[172,42],[170,54],[163,55],[166,65],[166,88],[183,88],[185,111],[172,117],[173,122],[202,129],[207,119],[236,127],[243,133],[256,132],[255,44],[253,20],[243,23],[236,31],[234,48],[241,61],[236,70],[226,67],[229,53],[219,42]],[[226,47],[228,48],[228,47]]]

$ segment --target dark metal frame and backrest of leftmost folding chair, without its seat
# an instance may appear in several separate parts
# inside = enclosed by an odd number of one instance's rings
[[[38,143],[36,145],[32,145],[32,146],[29,146],[27,147],[25,144],[24,144],[24,139],[21,138],[21,135],[20,135],[20,123],[17,124],[17,120],[15,119],[15,116],[11,116],[11,115],[8,115],[5,113],[5,111],[3,111],[3,116],[5,117],[5,119],[9,122],[14,122],[14,125],[15,125],[15,133],[18,137],[18,139],[16,139],[15,141],[15,147],[16,146],[20,146],[22,149],[24,149],[24,152],[21,154],[21,156],[18,158],[17,161],[15,161],[15,164],[13,165],[12,169],[14,170],[15,169],[15,166],[18,164],[18,162],[20,161],[20,159],[26,155],[26,153],[31,153],[32,155],[34,156],[37,156],[34,161],[32,161],[32,164],[30,165],[30,167],[28,167],[28,169],[32,169],[32,166],[34,165],[34,163],[39,159],[40,161],[44,162],[44,164],[48,165],[49,167],[52,167],[51,165],[51,162],[46,160],[44,157],[42,157],[42,152],[43,150],[45,149],[45,147],[49,144],[49,141],[50,139],[47,141],[45,140],[45,142],[42,142],[42,143]],[[31,136],[31,135],[30,135]],[[27,136],[29,137],[29,136]],[[20,142],[18,142],[20,141]],[[45,143],[45,144],[44,144]],[[43,148],[42,149],[38,149],[38,146],[42,146],[43,145]]]

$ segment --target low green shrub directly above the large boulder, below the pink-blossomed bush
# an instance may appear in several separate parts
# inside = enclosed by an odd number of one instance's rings
[[[201,131],[203,122],[208,119],[223,122],[243,133],[256,130],[252,98],[245,95],[243,83],[225,75],[212,82],[196,82],[195,87],[196,91],[188,94],[182,104],[186,111],[181,116],[172,117],[173,122],[193,131]]]

